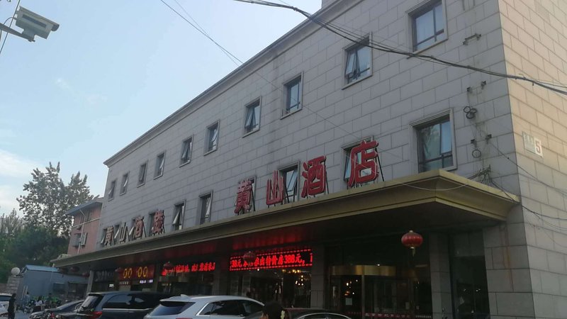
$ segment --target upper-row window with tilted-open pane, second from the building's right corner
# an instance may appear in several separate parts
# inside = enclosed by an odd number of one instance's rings
[[[347,66],[344,69],[347,84],[371,75],[372,51],[368,45],[369,38],[366,38],[347,49]]]

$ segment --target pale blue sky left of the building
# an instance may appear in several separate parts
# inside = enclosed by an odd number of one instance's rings
[[[305,19],[233,0],[163,1],[242,61]],[[321,0],[285,3],[309,13],[321,6]],[[0,23],[17,4],[0,0]],[[91,194],[103,196],[106,159],[237,67],[162,0],[21,0],[20,6],[60,27],[33,43],[9,35],[0,52],[0,215],[18,209],[33,169],[45,172],[50,162],[61,163],[66,183],[86,174]]]

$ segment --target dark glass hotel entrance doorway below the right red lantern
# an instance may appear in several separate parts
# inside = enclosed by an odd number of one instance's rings
[[[330,308],[353,319],[416,318],[425,310],[420,304],[431,301],[430,284],[399,276],[395,267],[335,266],[330,274]]]

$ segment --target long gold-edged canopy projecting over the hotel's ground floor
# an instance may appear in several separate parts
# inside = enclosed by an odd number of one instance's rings
[[[111,269],[257,247],[370,237],[380,234],[482,228],[505,220],[519,198],[436,170],[376,182],[157,237],[55,259],[56,267]]]

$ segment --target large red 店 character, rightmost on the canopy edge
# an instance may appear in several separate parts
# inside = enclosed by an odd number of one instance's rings
[[[378,152],[376,152],[376,147],[378,147],[376,140],[363,140],[360,145],[352,147],[350,151],[349,187],[374,181],[378,177],[378,165],[376,164]]]

